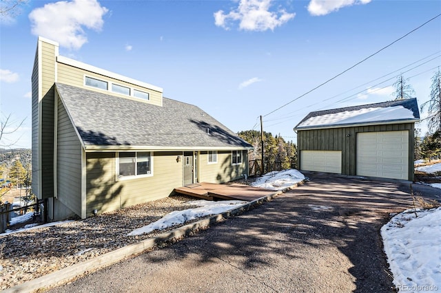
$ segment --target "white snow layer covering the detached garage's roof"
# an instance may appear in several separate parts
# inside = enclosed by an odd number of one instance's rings
[[[342,111],[315,116],[298,124],[297,128],[318,127],[342,124],[361,124],[371,122],[384,122],[403,119],[415,119],[413,112],[402,106],[365,108],[353,111]]]

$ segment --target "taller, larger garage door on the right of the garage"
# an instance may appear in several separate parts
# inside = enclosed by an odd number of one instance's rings
[[[408,180],[409,132],[357,133],[357,175]]]

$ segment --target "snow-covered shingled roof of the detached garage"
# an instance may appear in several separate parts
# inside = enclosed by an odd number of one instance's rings
[[[416,98],[378,102],[309,113],[294,130],[418,122]]]

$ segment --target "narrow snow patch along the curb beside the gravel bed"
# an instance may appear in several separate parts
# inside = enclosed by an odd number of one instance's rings
[[[188,205],[198,206],[197,208],[188,208],[187,210],[175,210],[172,213],[165,215],[163,218],[158,219],[147,226],[143,226],[136,230],[133,230],[127,236],[143,235],[150,233],[154,230],[165,230],[169,227],[184,224],[187,221],[192,221],[208,215],[215,215],[224,213],[227,210],[232,210],[238,206],[242,206],[247,202],[240,200],[226,200],[222,202],[212,202],[207,200],[194,200],[187,202]]]

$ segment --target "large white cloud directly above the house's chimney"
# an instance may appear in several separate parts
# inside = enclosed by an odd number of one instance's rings
[[[59,1],[45,4],[29,14],[32,34],[78,50],[88,38],[83,28],[99,31],[107,8],[96,0]]]

